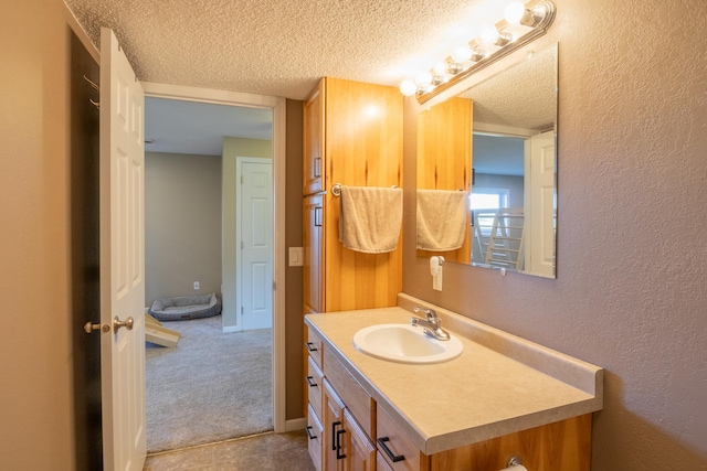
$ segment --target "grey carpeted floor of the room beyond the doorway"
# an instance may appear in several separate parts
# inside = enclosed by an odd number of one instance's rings
[[[221,315],[165,322],[176,347],[147,343],[147,451],[272,430],[272,330],[222,332]]]

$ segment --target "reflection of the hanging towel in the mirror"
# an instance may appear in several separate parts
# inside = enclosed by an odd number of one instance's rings
[[[463,191],[418,190],[418,248],[450,251],[464,245],[466,201]]]

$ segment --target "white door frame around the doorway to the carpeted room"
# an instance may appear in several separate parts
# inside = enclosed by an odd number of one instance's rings
[[[217,105],[273,110],[273,427],[289,431],[286,424],[285,385],[285,143],[286,99],[240,92],[141,82],[146,97],[181,99]],[[297,424],[298,425],[298,424]]]

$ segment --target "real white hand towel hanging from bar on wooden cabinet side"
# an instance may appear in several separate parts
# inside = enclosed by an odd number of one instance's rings
[[[339,240],[366,254],[398,248],[402,224],[402,189],[341,186]]]

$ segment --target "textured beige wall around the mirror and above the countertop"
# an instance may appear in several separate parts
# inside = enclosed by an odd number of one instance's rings
[[[707,470],[707,2],[556,4],[558,278],[447,264],[432,291],[408,99],[403,289],[603,366],[592,470]]]

